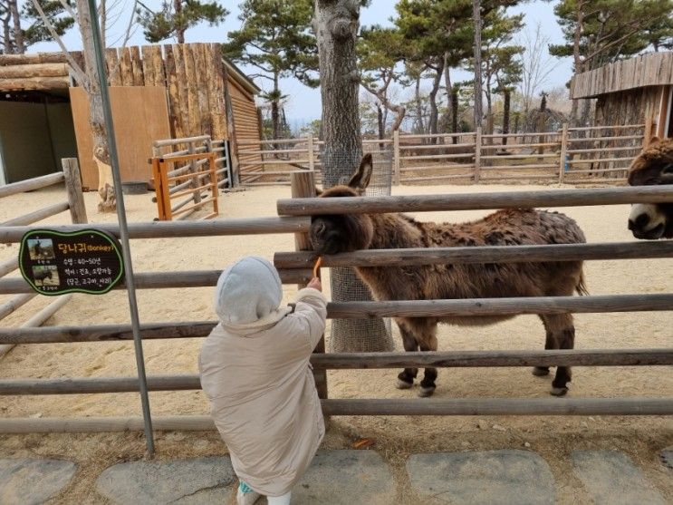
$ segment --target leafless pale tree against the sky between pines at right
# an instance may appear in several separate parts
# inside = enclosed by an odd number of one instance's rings
[[[548,82],[555,68],[555,60],[546,53],[546,48],[550,43],[551,38],[543,34],[540,23],[535,24],[533,33],[526,30],[522,36],[521,44],[524,46],[524,53],[521,56],[522,79],[519,91],[524,98],[524,116],[528,115],[535,97]]]

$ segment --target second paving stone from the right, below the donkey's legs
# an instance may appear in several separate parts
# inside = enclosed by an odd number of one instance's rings
[[[423,503],[553,504],[555,484],[543,458],[530,451],[436,452],[407,461]]]

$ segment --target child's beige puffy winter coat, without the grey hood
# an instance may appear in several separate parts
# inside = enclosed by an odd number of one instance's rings
[[[305,288],[288,312],[220,323],[199,355],[201,386],[236,475],[267,496],[292,490],[324,435],[309,357],[325,329],[326,300]]]

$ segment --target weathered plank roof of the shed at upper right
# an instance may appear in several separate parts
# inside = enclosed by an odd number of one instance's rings
[[[640,54],[572,77],[571,98],[673,84],[673,52]]]

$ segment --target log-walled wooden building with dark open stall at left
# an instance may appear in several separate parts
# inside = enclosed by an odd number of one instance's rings
[[[219,44],[112,48],[106,63],[122,180],[151,178],[155,140],[228,140],[235,163],[238,139],[260,140],[260,90]],[[62,53],[0,54],[0,184],[61,170],[61,158],[78,154],[82,184],[95,189],[88,108]]]

